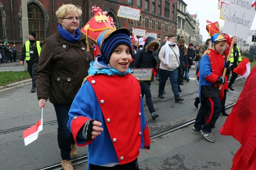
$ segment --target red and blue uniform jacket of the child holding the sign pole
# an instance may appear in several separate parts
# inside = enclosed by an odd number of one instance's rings
[[[224,71],[224,58],[223,55],[215,50],[209,49],[205,51],[199,64],[199,98],[201,102],[201,86],[214,86],[219,87],[220,83],[215,83],[218,77],[222,77]],[[220,95],[222,96],[223,86]],[[223,95],[224,96],[224,95]],[[223,97],[222,97],[223,98]]]

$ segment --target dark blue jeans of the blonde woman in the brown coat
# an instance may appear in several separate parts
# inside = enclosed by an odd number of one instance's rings
[[[71,152],[71,143],[74,144],[74,138],[72,133],[67,127],[67,123],[69,120],[69,109],[71,104],[53,104],[57,116],[58,122],[58,145],[60,149],[60,155],[62,160],[71,160],[70,152]]]

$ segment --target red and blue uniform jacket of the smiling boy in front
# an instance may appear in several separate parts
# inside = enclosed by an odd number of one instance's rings
[[[87,169],[89,164],[129,163],[150,145],[140,95],[140,84],[130,73],[87,77],[71,105],[67,124],[77,146],[89,144]],[[103,132],[94,140],[79,135],[89,119],[102,123]]]

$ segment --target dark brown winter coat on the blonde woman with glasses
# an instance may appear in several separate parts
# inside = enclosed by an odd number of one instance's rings
[[[53,104],[71,104],[83,79],[88,75],[93,50],[86,51],[86,37],[81,34],[76,43],[65,40],[59,32],[42,44],[35,85],[38,99]]]

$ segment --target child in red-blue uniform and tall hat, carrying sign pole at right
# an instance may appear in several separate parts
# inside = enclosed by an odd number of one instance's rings
[[[212,48],[205,51],[200,61],[199,98],[201,102],[193,132],[203,135],[208,141],[215,142],[212,136],[214,127],[221,114],[221,100],[224,96],[224,88],[219,90],[220,84],[225,83],[222,77],[224,67],[228,68],[226,75],[230,73],[230,62],[224,61],[220,52],[224,49],[226,39],[219,33],[218,22],[206,26],[211,35]]]

